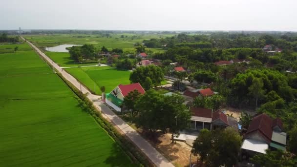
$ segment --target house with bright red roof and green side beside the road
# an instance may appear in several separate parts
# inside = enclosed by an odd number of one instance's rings
[[[122,103],[129,92],[137,90],[140,94],[144,94],[145,90],[139,83],[119,84],[110,93],[106,93],[105,102],[116,111],[121,112]]]

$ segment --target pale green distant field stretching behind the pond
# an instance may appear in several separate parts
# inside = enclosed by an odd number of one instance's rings
[[[121,36],[124,38],[121,38]],[[126,37],[127,36],[127,37]],[[102,37],[101,35],[85,35],[85,34],[53,34],[53,35],[23,35],[25,39],[33,42],[39,47],[56,46],[60,44],[94,44],[96,47],[101,48],[106,46],[108,49],[122,48],[134,49],[133,44],[136,42],[142,43],[143,40],[152,38],[160,39],[170,37],[172,35],[164,34],[110,34],[110,37]],[[148,48],[152,51],[164,51],[162,48]]]

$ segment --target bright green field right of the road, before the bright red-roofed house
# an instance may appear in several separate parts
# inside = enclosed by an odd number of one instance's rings
[[[109,66],[67,68],[65,70],[99,95],[101,94],[100,86],[105,86],[106,92],[110,92],[119,84],[130,84],[130,71],[117,70]]]

